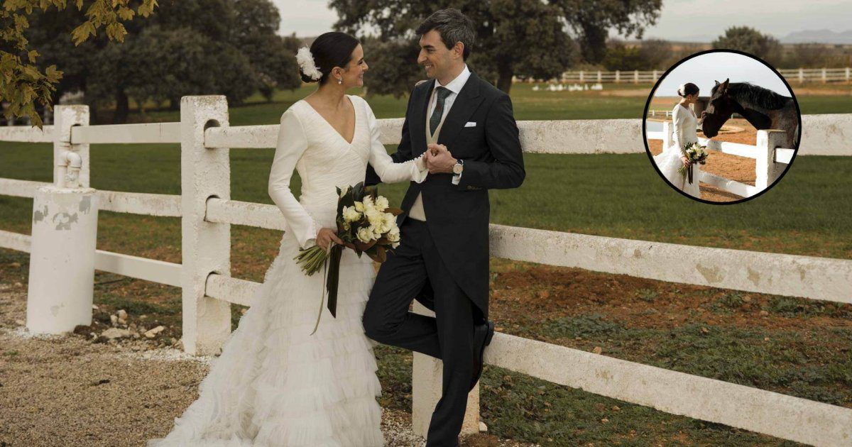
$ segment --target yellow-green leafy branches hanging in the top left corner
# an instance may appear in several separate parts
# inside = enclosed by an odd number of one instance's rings
[[[124,42],[127,30],[124,22],[133,20],[135,14],[147,17],[158,6],[157,0],[141,0],[135,9],[130,7],[130,0],[77,0],[78,11],[88,4],[86,20],[75,27],[71,37],[75,45],[85,42],[90,36],[96,36],[97,30],[103,26],[107,30],[107,38],[111,41]],[[0,100],[8,100],[9,108],[5,112],[7,118],[30,116],[32,123],[42,128],[42,118],[36,111],[36,104],[41,103],[46,110],[52,111],[51,93],[55,84],[62,77],[62,72],[56,66],[47,66],[44,72],[33,64],[39,56],[36,49],[30,49],[25,32],[29,28],[27,17],[34,10],[49,11],[51,8],[66,9],[66,0],[5,0],[0,10]],[[21,61],[26,54],[28,63]]]

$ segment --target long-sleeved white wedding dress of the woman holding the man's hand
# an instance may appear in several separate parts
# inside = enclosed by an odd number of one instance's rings
[[[153,446],[373,447],[384,444],[376,397],[373,341],[361,315],[375,273],[367,255],[343,250],[337,318],[323,306],[314,335],[323,273],[306,276],[293,257],[314,245],[317,231],[336,227],[335,186],[364,181],[370,163],[383,182],[422,182],[423,160],[393,163],[379,140],[366,100],[355,109],[351,143],[305,100],[281,117],[269,195],[285,218],[278,256],[269,266],[239,326],[199,385],[199,398]],[[293,169],[302,196],[290,190]]]

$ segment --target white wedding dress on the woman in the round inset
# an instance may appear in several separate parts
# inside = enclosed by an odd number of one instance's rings
[[[683,166],[681,156],[683,154],[682,147],[691,142],[698,141],[696,129],[698,128],[698,118],[688,108],[676,104],[671,111],[671,122],[674,123],[674,140],[672,145],[664,147],[663,152],[653,156],[653,162],[657,163],[659,172],[663,173],[665,179],[670,181],[683,192],[690,196],[701,198],[701,189],[699,188],[699,178],[701,165],[696,163],[693,165],[693,182],[690,184],[685,175],[677,172],[677,169]]]

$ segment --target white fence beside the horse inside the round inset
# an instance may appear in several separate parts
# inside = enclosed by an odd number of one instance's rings
[[[663,149],[671,146],[673,126],[670,122],[663,123],[663,130],[646,133],[648,140],[662,140]],[[700,171],[698,180],[708,185],[716,186],[723,191],[732,192],[742,198],[750,198],[773,184],[778,177],[784,173],[786,165],[790,164],[796,151],[780,147],[786,144],[786,132],[783,130],[758,130],[755,145],[744,145],[728,141],[710,140],[699,138],[699,143],[707,146],[707,149],[720,151],[740,157],[755,159],[755,184],[748,185],[740,181],[726,179],[719,175],[711,174],[705,170]]]

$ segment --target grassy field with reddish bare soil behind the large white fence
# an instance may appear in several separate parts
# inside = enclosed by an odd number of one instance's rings
[[[512,98],[519,120],[635,118],[650,87],[539,93],[519,84]],[[254,98],[230,109],[230,123],[277,123],[308,93],[279,92],[273,103]],[[406,106],[404,98],[369,100],[378,117],[400,117]],[[803,113],[852,112],[850,95],[798,100]],[[131,119],[177,121],[178,114],[153,111]],[[50,152],[49,145],[0,143],[0,177],[50,181]],[[176,145],[99,145],[91,154],[97,189],[180,193]],[[272,149],[231,151],[233,199],[272,203],[266,193],[272,155]],[[490,192],[492,222],[852,259],[849,158],[797,158],[779,185],[734,206],[695,203],[671,191],[643,154],[529,154],[525,162],[521,188]],[[382,186],[394,202],[404,191],[404,185]],[[31,199],[0,196],[0,229],[29,234],[31,216]],[[178,218],[99,217],[99,249],[181,262]],[[232,226],[232,275],[261,281],[280,237]],[[26,287],[27,268],[26,254],[0,249],[0,281]],[[180,289],[103,272],[95,283],[101,307],[153,315],[180,336]],[[602,347],[604,355],[852,407],[852,307],[498,259],[492,260],[491,300],[506,333],[588,351]],[[236,323],[242,309],[233,310]],[[410,410],[411,354],[381,347],[377,356],[383,405]],[[486,369],[482,391],[491,433],[544,445],[793,445],[497,368]]]

